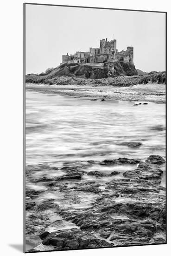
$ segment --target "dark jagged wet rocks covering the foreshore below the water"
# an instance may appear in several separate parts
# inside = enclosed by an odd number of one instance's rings
[[[124,172],[117,171],[120,166]],[[164,168],[159,155],[145,162],[119,158],[66,162],[62,168],[27,166],[26,241],[34,247],[30,251],[165,243]]]

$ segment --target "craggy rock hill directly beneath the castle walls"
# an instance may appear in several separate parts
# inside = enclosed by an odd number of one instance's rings
[[[76,76],[81,78],[107,78],[116,77],[120,75],[137,75],[137,70],[133,64],[116,62],[106,63],[85,63],[85,64],[74,64],[65,62],[54,68],[49,73],[42,73],[40,76],[55,77],[55,76]]]

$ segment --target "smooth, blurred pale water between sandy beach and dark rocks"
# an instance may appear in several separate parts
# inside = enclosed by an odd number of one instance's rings
[[[165,104],[133,104],[26,91],[26,165],[165,157]],[[142,146],[120,145],[125,141]]]

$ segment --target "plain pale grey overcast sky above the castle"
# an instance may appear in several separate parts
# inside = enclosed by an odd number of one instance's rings
[[[134,47],[134,64],[143,71],[165,70],[165,13],[26,5],[26,74],[57,67],[63,54],[117,40],[117,49]]]

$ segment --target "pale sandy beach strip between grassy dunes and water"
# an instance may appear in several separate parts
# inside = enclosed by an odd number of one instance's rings
[[[129,87],[96,85],[36,85],[26,83],[26,89],[47,94],[59,94],[89,100],[121,100],[165,103],[164,84],[133,85]]]

